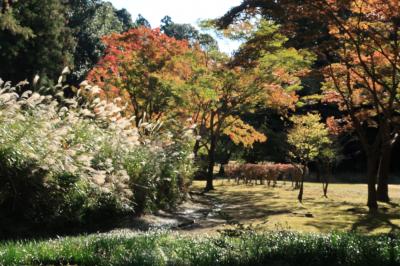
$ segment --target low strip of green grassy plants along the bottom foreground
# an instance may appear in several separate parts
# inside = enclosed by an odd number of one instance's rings
[[[0,244],[2,265],[400,265],[398,236],[164,232],[102,234]]]

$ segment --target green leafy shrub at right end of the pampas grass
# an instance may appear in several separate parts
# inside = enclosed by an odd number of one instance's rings
[[[134,149],[125,158],[137,212],[170,209],[184,198],[194,172],[188,132],[175,130],[169,145]]]

